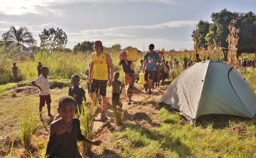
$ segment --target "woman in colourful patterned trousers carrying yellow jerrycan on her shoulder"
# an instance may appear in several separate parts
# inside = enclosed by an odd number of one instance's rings
[[[132,50],[132,52],[134,52],[136,49],[135,55],[134,54],[131,55],[133,57],[135,56],[136,59],[134,58],[132,60],[128,60],[128,58],[129,58],[129,57],[127,57],[127,52],[129,51],[128,49]],[[120,58],[119,66],[122,65],[124,73],[125,73],[124,82],[125,82],[126,94],[128,97],[128,100],[126,102],[128,102],[128,105],[131,104],[131,101],[132,101],[131,98],[133,95],[133,86],[134,86],[134,82],[135,82],[135,72],[133,70],[134,69],[133,62],[135,62],[137,60],[136,55],[137,55],[137,48],[132,48],[131,46],[126,47],[119,54],[119,58]]]

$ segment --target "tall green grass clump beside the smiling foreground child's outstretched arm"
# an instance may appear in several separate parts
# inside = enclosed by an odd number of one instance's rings
[[[92,103],[86,105],[86,103],[84,102],[82,108],[83,110],[81,116],[79,117],[82,134],[85,135],[85,137],[87,137],[90,140],[93,140],[94,137],[94,121],[96,115],[93,115],[93,113],[96,112],[97,106],[98,104],[94,107]],[[89,155],[92,146],[89,143],[86,143],[85,141],[82,141],[82,143],[80,143],[79,145],[82,148],[83,153],[85,155]]]

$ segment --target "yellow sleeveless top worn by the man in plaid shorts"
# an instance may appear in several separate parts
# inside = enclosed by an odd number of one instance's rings
[[[106,52],[103,51],[100,56],[96,52],[92,54],[92,61],[94,65],[93,78],[96,80],[107,80],[107,59]]]

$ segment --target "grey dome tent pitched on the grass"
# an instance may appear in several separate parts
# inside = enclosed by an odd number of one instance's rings
[[[178,75],[165,90],[155,109],[175,110],[195,123],[207,114],[252,118],[256,94],[245,78],[230,65],[218,61],[196,63]]]

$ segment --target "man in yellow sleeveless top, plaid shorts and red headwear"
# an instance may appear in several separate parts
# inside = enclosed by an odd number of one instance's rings
[[[100,115],[101,120],[106,119],[105,110],[107,107],[107,97],[106,97],[106,89],[107,89],[107,66],[110,67],[110,80],[108,82],[108,86],[111,86],[113,83],[113,73],[114,67],[111,60],[110,55],[104,51],[102,42],[95,41],[93,48],[95,50],[91,55],[91,66],[89,70],[89,80],[90,84],[90,97],[94,105],[97,104],[97,97],[95,96],[95,91],[99,88],[99,93],[102,99],[102,112]],[[93,77],[92,77],[93,74]],[[99,110],[99,108],[97,109]]]

